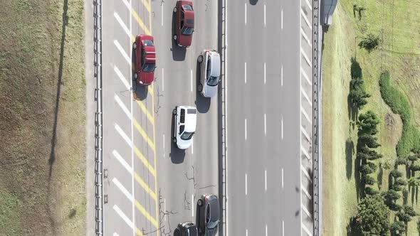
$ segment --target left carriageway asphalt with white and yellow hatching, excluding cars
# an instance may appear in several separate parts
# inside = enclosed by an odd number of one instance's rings
[[[194,1],[190,48],[172,41],[172,1],[103,1],[104,232],[105,235],[172,235],[179,222],[195,221],[196,200],[218,193],[217,99],[196,93],[196,58],[217,49],[217,4]],[[154,36],[155,81],[132,81],[132,43]],[[172,144],[172,109],[196,106],[190,149]]]

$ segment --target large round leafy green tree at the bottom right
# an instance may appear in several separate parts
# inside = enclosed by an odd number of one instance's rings
[[[384,235],[389,230],[389,208],[379,194],[367,195],[357,206],[356,222],[362,232]]]

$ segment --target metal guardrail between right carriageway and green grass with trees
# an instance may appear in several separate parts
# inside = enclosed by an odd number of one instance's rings
[[[320,0],[313,0],[313,235],[320,235]],[[322,174],[322,173],[321,173]]]

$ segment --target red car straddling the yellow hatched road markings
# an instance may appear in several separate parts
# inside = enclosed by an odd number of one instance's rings
[[[153,36],[138,35],[132,48],[135,50],[135,80],[139,85],[152,84],[154,68],[156,68],[156,49]]]

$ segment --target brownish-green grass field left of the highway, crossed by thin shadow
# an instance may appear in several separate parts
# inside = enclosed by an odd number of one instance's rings
[[[0,5],[0,235],[83,235],[83,0]]]

